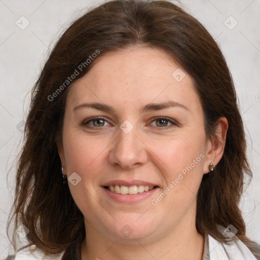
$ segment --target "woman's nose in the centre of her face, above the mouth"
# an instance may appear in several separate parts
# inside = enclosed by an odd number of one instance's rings
[[[138,135],[136,127],[129,133],[121,129],[118,132],[117,138],[111,144],[110,163],[128,170],[145,164],[148,159],[147,146]]]

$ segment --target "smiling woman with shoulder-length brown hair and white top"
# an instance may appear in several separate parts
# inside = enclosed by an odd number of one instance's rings
[[[176,5],[110,1],[75,21],[25,129],[15,259],[260,259],[238,208],[251,172],[232,77]]]

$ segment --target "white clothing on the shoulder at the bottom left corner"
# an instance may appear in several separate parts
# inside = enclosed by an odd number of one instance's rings
[[[15,255],[8,256],[5,260],[61,260],[63,253],[59,255],[47,256],[41,250],[23,249],[18,251]]]

